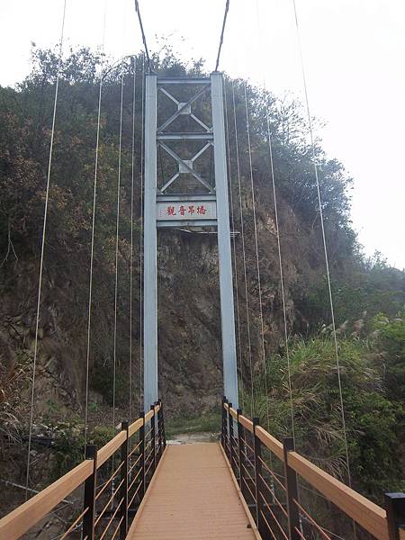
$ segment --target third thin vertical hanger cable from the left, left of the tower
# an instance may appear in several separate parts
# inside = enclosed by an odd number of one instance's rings
[[[118,311],[118,248],[120,239],[120,198],[121,198],[121,149],[122,149],[122,108],[123,108],[124,72],[121,71],[121,104],[120,104],[120,140],[118,148],[117,177],[117,219],[115,230],[115,285],[114,285],[114,336],[113,336],[113,370],[112,370],[112,427],[115,428],[115,390],[117,372],[117,311]]]

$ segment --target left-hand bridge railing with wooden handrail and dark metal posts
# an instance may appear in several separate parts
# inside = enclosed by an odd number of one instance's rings
[[[58,540],[74,533],[81,533],[83,540],[122,540],[165,448],[163,406],[157,401],[133,423],[122,422],[120,433],[102,448],[87,445],[81,464],[0,519],[0,538],[21,538],[81,488],[82,511],[70,516]]]

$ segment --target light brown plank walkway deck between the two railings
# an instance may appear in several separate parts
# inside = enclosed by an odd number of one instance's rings
[[[127,540],[260,538],[219,444],[167,446]]]

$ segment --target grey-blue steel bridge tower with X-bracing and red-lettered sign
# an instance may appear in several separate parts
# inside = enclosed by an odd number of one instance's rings
[[[186,95],[183,101],[175,97],[180,91]],[[202,99],[208,102],[208,107],[197,106]],[[237,408],[238,374],[222,76],[213,72],[209,78],[163,78],[150,73],[146,75],[145,100],[144,407],[148,410],[158,397],[157,229],[186,226],[217,229],[224,395]],[[162,100],[170,102],[174,109],[173,114],[164,119],[160,119]],[[195,108],[200,112],[194,114]],[[190,154],[191,147],[198,149]],[[160,179],[160,186],[157,185],[157,148],[159,152],[163,150],[175,166],[171,177]],[[206,157],[208,151],[212,152],[212,148],[213,183],[199,171],[196,163],[202,155]],[[181,149],[185,149],[191,158],[180,157]]]

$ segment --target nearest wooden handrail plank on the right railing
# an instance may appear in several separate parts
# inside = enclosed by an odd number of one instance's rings
[[[288,464],[313,488],[320,491],[375,538],[389,540],[387,514],[384,509],[311,464],[296,452],[289,452]]]

